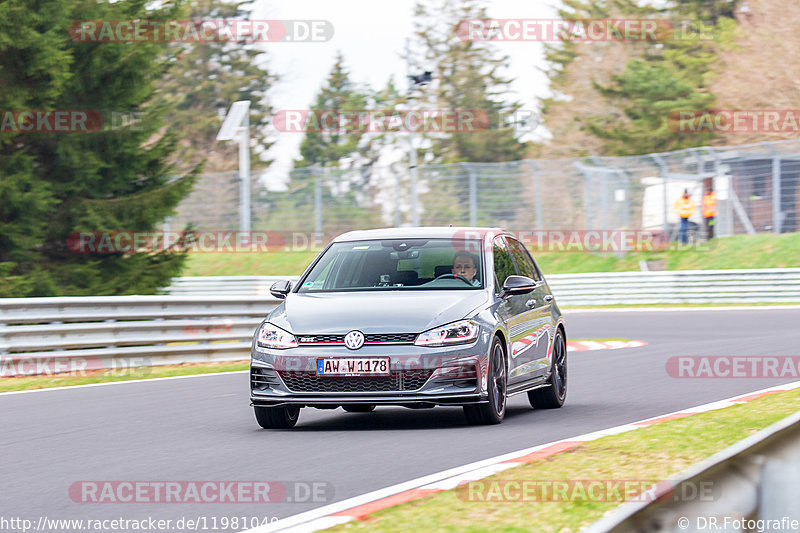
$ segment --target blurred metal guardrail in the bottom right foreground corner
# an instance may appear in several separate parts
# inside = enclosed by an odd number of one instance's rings
[[[800,411],[690,467],[649,501],[623,504],[584,533],[796,531],[798,486]],[[697,497],[698,487],[710,490]]]

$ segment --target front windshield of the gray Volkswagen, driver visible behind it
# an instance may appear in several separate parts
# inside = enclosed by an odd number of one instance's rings
[[[334,243],[297,292],[478,290],[480,241],[389,239]],[[453,265],[457,270],[453,270]]]

